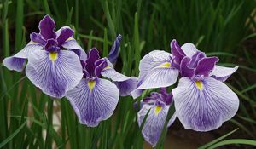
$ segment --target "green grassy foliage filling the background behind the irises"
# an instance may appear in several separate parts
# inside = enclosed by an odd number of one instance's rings
[[[99,127],[87,128],[79,124],[66,99],[51,100],[24,72],[10,72],[3,66],[4,57],[18,52],[29,41],[29,34],[38,32],[38,22],[45,14],[54,18],[57,29],[72,26],[84,50],[96,47],[104,56],[114,38],[122,34],[116,67],[127,76],[138,75],[139,61],[149,51],[170,51],[173,38],[219,56],[222,66],[240,66],[227,81],[241,100],[239,112],[224,123],[225,129],[212,131],[218,140],[201,148],[256,146],[255,0],[0,2],[0,148],[143,148],[133,108],[136,100],[131,97],[120,98],[113,117]],[[53,123],[54,113],[60,111],[61,123]],[[157,148],[164,147],[166,134],[164,129]]]

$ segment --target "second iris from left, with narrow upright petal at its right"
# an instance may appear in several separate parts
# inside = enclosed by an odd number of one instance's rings
[[[113,69],[111,62],[116,61],[120,38],[114,42],[108,59],[101,59],[97,49],[90,49],[88,59],[81,60],[83,79],[74,89],[67,91],[67,100],[79,122],[87,126],[96,127],[108,119],[118,104],[119,95],[130,95],[137,86],[137,77],[126,77]]]

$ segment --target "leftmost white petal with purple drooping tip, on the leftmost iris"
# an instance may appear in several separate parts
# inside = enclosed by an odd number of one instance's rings
[[[43,49],[38,43],[30,42],[24,49],[21,49],[17,54],[7,57],[3,60],[3,66],[6,66],[9,70],[21,72],[25,66],[26,58],[33,50]]]

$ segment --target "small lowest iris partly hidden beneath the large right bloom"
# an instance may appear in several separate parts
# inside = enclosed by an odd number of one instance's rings
[[[160,93],[152,92],[150,97],[146,97],[141,101],[142,108],[137,113],[137,122],[141,126],[143,119],[148,113],[148,117],[143,125],[143,137],[153,147],[156,146],[160,139],[169,107],[172,106],[172,103],[172,93],[168,94],[165,88],[160,89]],[[177,114],[174,113],[168,121],[167,127],[171,126],[176,117]]]

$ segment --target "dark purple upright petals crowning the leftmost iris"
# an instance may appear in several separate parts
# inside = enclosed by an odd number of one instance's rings
[[[69,27],[64,27],[58,34],[55,32],[55,21],[49,15],[45,15],[44,19],[39,23],[39,33],[32,32],[30,38],[33,42],[44,46],[44,49],[49,52],[58,52],[62,49],[62,44],[69,37],[73,37],[73,30]]]

